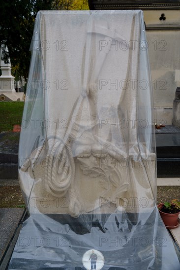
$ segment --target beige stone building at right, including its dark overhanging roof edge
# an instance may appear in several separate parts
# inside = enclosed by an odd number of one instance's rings
[[[172,124],[173,101],[180,87],[179,0],[89,0],[91,10],[142,9],[158,124]]]

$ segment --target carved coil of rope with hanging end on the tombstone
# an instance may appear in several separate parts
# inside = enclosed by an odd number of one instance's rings
[[[48,153],[45,162],[45,189],[54,197],[69,195],[69,211],[71,216],[78,217],[81,204],[76,198],[74,185],[75,163],[67,140],[60,138],[48,139]]]

